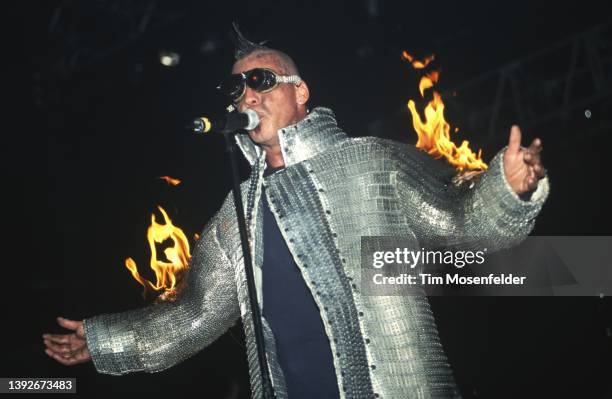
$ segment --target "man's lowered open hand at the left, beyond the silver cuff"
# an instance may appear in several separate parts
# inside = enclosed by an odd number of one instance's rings
[[[58,317],[57,323],[74,332],[71,334],[43,334],[43,341],[47,347],[45,353],[66,366],[90,361],[91,355],[85,341],[83,321]]]

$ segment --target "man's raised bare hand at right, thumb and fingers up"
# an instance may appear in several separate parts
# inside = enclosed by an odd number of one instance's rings
[[[538,181],[546,176],[546,169],[540,161],[542,141],[538,138],[529,148],[521,148],[521,130],[512,126],[508,148],[504,153],[504,172],[510,187],[517,194],[533,191]]]

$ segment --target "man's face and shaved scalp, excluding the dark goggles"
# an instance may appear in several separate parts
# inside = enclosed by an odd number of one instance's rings
[[[237,61],[232,73],[246,72],[254,68],[268,68],[279,75],[285,75],[272,55],[251,56]],[[277,131],[299,122],[305,116],[305,101],[293,84],[280,83],[267,93],[258,93],[247,86],[244,96],[238,102],[239,111],[248,108],[257,113],[259,126],[249,132],[251,139],[264,148],[279,145]]]

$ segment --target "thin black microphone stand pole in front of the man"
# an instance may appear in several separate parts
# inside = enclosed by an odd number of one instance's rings
[[[263,329],[261,324],[261,312],[257,301],[257,291],[255,288],[255,277],[253,276],[253,261],[249,249],[247,236],[246,220],[244,219],[244,207],[242,206],[242,193],[240,191],[240,177],[238,176],[238,163],[236,161],[236,143],[233,140],[237,130],[223,129],[221,131],[225,137],[225,149],[229,153],[230,165],[232,169],[232,192],[234,194],[234,204],[236,205],[236,215],[238,217],[238,230],[240,231],[240,241],[242,243],[242,254],[244,259],[244,269],[247,279],[249,292],[249,303],[253,316],[253,327],[255,330],[255,344],[257,346],[257,357],[259,360],[259,370],[261,374],[261,385],[263,397],[274,399],[274,389],[268,373],[268,362],[266,360],[266,350],[264,346]]]

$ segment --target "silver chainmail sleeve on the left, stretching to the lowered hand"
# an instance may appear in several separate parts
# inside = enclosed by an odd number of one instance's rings
[[[240,310],[234,268],[222,249],[231,204],[226,200],[204,229],[179,299],[85,320],[85,338],[98,372],[164,370],[211,344],[236,322]]]

